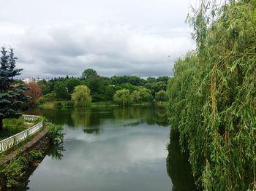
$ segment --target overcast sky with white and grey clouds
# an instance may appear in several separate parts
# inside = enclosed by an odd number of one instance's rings
[[[12,47],[20,77],[171,76],[195,49],[184,21],[196,0],[1,1],[0,42]],[[170,57],[169,57],[170,55]]]

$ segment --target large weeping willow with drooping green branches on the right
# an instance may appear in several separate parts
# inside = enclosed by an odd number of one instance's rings
[[[256,1],[201,1],[168,82],[170,121],[204,190],[256,190]]]

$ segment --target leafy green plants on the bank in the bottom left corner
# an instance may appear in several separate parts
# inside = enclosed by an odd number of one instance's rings
[[[12,187],[18,184],[18,181],[22,178],[23,174],[26,172],[29,163],[26,157],[18,156],[10,161],[10,163],[1,167],[1,174],[4,175],[6,179],[7,187]]]

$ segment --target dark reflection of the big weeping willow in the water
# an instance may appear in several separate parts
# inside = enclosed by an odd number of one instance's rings
[[[173,191],[197,190],[192,176],[191,166],[188,162],[188,154],[181,153],[178,142],[178,131],[170,130],[170,144],[168,145],[168,156],[166,159],[167,174],[173,182]]]

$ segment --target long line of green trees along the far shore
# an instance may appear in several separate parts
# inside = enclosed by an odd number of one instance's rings
[[[143,79],[137,76],[102,77],[94,69],[86,69],[81,77],[58,77],[37,82],[42,97],[37,98],[39,103],[46,101],[79,100],[79,89],[89,95],[89,102],[111,102],[128,105],[152,101],[167,101],[167,81],[169,77],[148,77]],[[76,96],[73,93],[76,92]],[[77,101],[78,102],[78,101]]]

